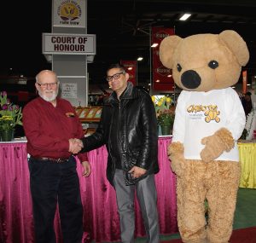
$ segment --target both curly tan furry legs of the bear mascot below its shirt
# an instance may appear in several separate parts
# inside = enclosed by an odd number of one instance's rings
[[[236,162],[186,161],[183,176],[177,176],[177,223],[184,243],[228,243],[240,171]],[[209,205],[207,228],[206,198]]]

